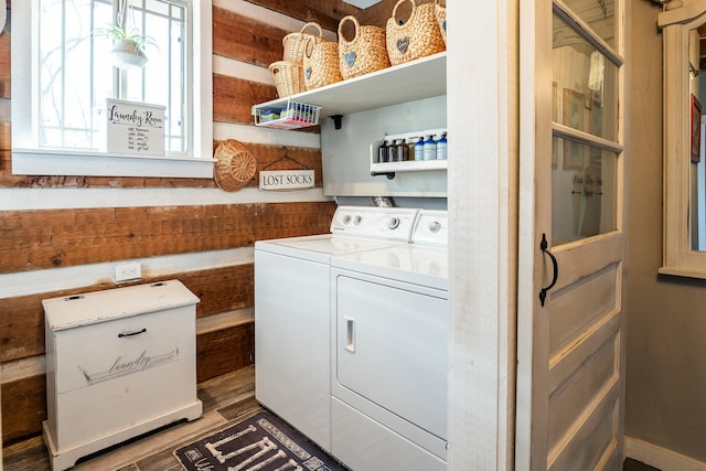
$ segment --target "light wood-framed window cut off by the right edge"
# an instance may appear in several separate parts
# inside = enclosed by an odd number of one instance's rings
[[[703,3],[676,7],[660,13],[657,24],[664,44],[664,237],[659,271],[706,279],[706,247],[699,243],[706,217],[706,211],[699,208],[706,154],[703,127],[694,119],[700,114],[692,98],[704,105],[706,74],[699,66],[699,32],[706,24],[706,8]]]

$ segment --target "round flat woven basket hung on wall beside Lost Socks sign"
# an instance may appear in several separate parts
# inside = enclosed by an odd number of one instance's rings
[[[257,162],[240,142],[228,139],[218,144],[213,179],[223,191],[236,191],[249,182],[257,171]]]

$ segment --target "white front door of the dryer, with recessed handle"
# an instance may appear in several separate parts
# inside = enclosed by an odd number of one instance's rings
[[[374,403],[445,438],[447,292],[361,274],[334,279],[334,373],[352,393],[344,400],[360,397],[359,408]],[[361,411],[384,417],[374,407]]]

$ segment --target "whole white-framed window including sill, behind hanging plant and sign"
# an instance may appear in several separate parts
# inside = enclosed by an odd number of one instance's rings
[[[115,66],[116,19],[149,36],[143,67]],[[29,0],[12,20],[13,173],[212,175],[211,0]],[[163,106],[164,156],[103,152],[106,98]]]

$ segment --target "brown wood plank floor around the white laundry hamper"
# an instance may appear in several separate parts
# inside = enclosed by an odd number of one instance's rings
[[[203,416],[146,433],[137,439],[81,459],[76,471],[182,471],[172,452],[261,410],[255,400],[255,367],[246,367],[199,385]],[[51,471],[41,437],[2,451],[4,471]]]

